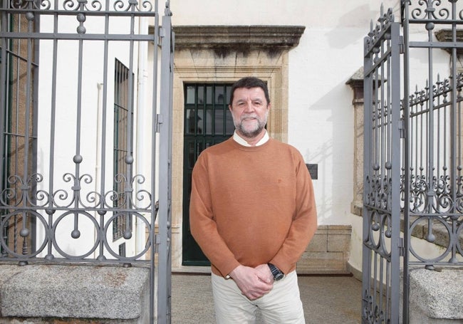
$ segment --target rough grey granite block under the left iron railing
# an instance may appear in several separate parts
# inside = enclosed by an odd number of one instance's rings
[[[0,324],[149,322],[149,269],[0,265]]]

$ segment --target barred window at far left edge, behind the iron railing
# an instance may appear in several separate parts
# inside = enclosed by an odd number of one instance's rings
[[[27,20],[23,15],[7,16],[7,26],[9,31],[24,31],[28,29]],[[36,26],[32,24],[31,30]],[[1,189],[9,188],[9,194],[5,194],[4,204],[15,206],[21,204],[21,181],[36,172],[36,69],[38,65],[34,51],[28,56],[28,45],[31,48],[38,48],[35,41],[25,39],[10,39],[6,44],[5,55],[0,55],[0,64],[4,64],[1,69],[0,80],[3,84],[4,107],[0,112],[3,113],[4,125],[1,125],[3,134],[3,147],[1,159],[3,160],[0,172],[2,174]],[[0,51],[1,51],[0,43]],[[27,95],[28,94],[28,95]],[[19,181],[21,179],[21,181]],[[35,183],[31,191],[35,192]],[[35,197],[31,194],[31,199]],[[5,214],[9,209],[1,209],[0,222],[4,220]],[[31,235],[24,238],[19,235],[19,231],[26,219],[26,227],[31,229]],[[16,214],[11,217],[3,227],[1,233],[4,241],[11,251],[15,253],[28,254],[35,251],[35,220],[27,216],[27,213]],[[0,256],[6,256],[0,246]]]

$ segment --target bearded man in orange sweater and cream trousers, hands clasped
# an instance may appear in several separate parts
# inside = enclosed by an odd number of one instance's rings
[[[258,78],[231,88],[235,132],[194,165],[189,209],[194,239],[212,264],[217,323],[305,323],[296,262],[317,227],[301,154],[269,137],[269,90]]]

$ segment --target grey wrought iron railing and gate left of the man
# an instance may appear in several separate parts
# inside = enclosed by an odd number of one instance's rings
[[[170,16],[1,0],[0,261],[149,266],[150,323],[170,323]]]

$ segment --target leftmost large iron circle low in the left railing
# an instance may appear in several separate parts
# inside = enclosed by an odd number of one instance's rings
[[[47,222],[46,220],[43,218],[43,216],[41,214],[38,214],[36,211],[31,211],[31,210],[21,210],[21,209],[18,209],[16,211],[14,211],[13,213],[9,213],[9,214],[6,214],[4,216],[2,216],[2,221],[0,223],[0,231],[1,233],[4,233],[5,232],[5,229],[6,229],[6,226],[9,224],[9,221],[12,217],[14,216],[22,216],[24,218],[24,214],[28,214],[28,217],[35,217],[36,219],[39,219],[43,225],[43,229],[46,229],[48,228],[47,226]],[[21,237],[23,237],[24,239],[26,239],[27,236],[29,236],[31,234],[31,230],[30,229],[27,229],[25,228],[26,231],[24,231],[24,229],[21,229]],[[14,256],[16,258],[33,258],[34,256],[37,256],[38,254],[40,254],[43,249],[45,249],[46,247],[46,244],[47,244],[47,241],[48,241],[48,237],[47,236],[44,236],[43,237],[43,241],[41,243],[41,246],[38,247],[38,249],[36,249],[36,251],[34,251],[33,253],[31,254],[19,254],[19,253],[16,253],[15,251],[11,251],[11,249],[9,248],[7,242],[5,241],[6,237],[1,235],[0,236],[0,245],[1,245],[1,248],[4,249],[4,251],[6,251],[9,255],[11,256]]]

